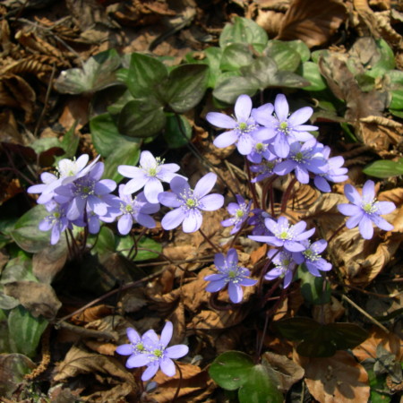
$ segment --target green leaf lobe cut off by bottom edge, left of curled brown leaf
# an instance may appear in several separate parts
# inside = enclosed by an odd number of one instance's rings
[[[253,365],[238,391],[240,403],[282,403],[283,394],[262,364]]]

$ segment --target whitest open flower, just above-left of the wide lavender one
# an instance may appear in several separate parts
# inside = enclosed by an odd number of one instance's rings
[[[169,183],[179,170],[177,164],[164,164],[164,160],[155,158],[150,151],[142,151],[140,167],[120,165],[117,172],[125,177],[132,178],[124,188],[124,194],[133,194],[144,187],[144,195],[150,203],[158,203],[159,193],[164,191],[161,182]],[[181,176],[183,177],[183,176]]]

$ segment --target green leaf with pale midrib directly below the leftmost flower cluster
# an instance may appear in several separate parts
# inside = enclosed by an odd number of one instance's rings
[[[21,249],[37,253],[49,244],[49,233],[39,231],[39,222],[47,216],[47,210],[37,205],[27,211],[16,223],[11,236]]]

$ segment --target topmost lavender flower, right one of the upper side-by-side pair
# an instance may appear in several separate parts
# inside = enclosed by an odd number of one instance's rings
[[[265,113],[254,113],[253,116],[258,124],[262,124],[270,132],[273,140],[273,151],[282,159],[287,158],[289,145],[294,141],[308,141],[313,135],[308,133],[317,130],[316,126],[304,124],[313,114],[312,107],[302,107],[291,116],[288,116],[289,107],[286,96],[278,94],[274,101],[275,116]]]

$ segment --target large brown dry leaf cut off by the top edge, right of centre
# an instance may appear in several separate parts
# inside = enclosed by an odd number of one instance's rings
[[[294,0],[276,39],[301,39],[308,47],[317,47],[326,43],[346,18],[346,6],[339,0]]]

